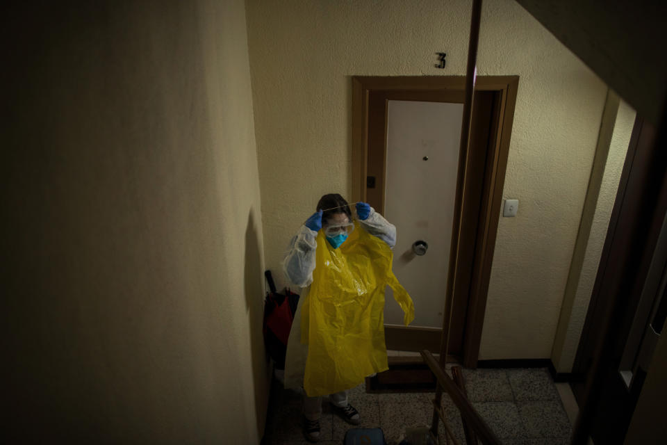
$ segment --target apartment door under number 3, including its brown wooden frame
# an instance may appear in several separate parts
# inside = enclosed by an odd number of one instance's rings
[[[354,78],[353,198],[397,226],[394,272],[415,301],[415,321],[403,327],[388,293],[387,348],[440,351],[454,278],[448,351],[476,366],[518,78],[477,78],[465,181],[457,171],[463,81]],[[425,255],[413,253],[415,241],[427,243]]]

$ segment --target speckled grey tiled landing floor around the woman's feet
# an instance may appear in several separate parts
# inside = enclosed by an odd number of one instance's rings
[[[559,391],[547,369],[464,369],[468,398],[503,444],[568,444],[571,426]],[[571,394],[571,393],[570,393]],[[342,444],[350,428],[382,428],[388,444],[397,444],[406,427],[431,423],[432,393],[367,394],[360,385],[349,391],[349,402],[361,414],[361,425],[353,427],[331,413],[325,398],[320,422],[320,444]],[[565,400],[566,397],[563,397]],[[566,400],[570,404],[570,401]],[[445,396],[443,406],[450,428],[465,444],[458,410]],[[279,388],[272,399],[266,444],[307,444],[302,433],[302,396]],[[568,411],[571,411],[572,408]],[[576,409],[576,408],[575,408]],[[570,413],[570,415],[572,415]],[[440,437],[445,430],[440,425]]]

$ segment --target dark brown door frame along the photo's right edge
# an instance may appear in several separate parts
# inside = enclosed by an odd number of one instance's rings
[[[573,443],[623,440],[641,393],[645,373],[627,387],[620,369],[667,214],[667,138],[659,137],[638,115],[573,366],[570,386],[582,407]]]

